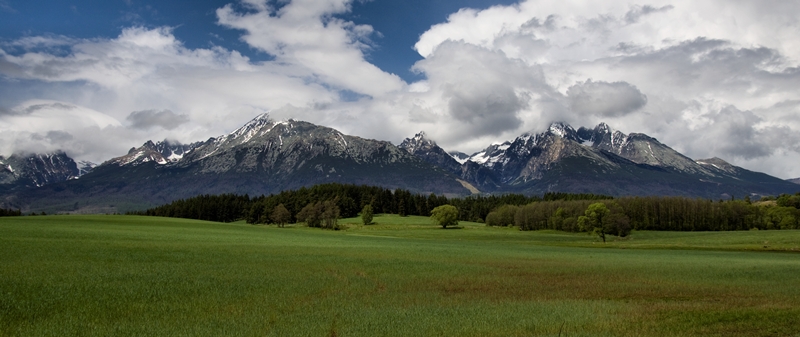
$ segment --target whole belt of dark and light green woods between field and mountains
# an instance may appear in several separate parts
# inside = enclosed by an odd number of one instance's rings
[[[626,236],[631,230],[726,231],[799,229],[800,193],[751,201],[687,197],[621,197],[547,193],[447,198],[375,186],[323,184],[269,196],[201,195],[138,214],[250,224],[305,222],[337,229],[336,220],[375,214],[430,216],[442,205],[458,209],[458,220],[520,230],[553,229]],[[369,207],[367,207],[369,206]],[[370,219],[371,221],[371,219]],[[365,222],[369,223],[369,222]]]

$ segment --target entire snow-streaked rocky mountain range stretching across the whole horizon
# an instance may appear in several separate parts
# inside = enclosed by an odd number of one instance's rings
[[[257,116],[191,144],[148,141],[101,165],[63,152],[0,157],[2,207],[120,212],[199,194],[260,195],[337,182],[417,193],[545,192],[731,198],[794,193],[800,185],[690,159],[645,134],[606,124],[553,123],[472,155],[447,152],[424,132],[399,146],[308,122]]]

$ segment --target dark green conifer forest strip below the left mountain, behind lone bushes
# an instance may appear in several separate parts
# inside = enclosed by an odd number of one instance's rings
[[[447,198],[433,193],[426,196],[403,189],[391,190],[376,186],[330,183],[253,198],[248,195],[233,194],[200,195],[129,214],[218,222],[245,220],[250,224],[265,224],[278,223],[272,219],[272,215],[276,207],[283,205],[283,208],[290,214],[287,223],[307,222],[298,219],[298,214],[304,216],[301,217],[302,219],[306,219],[306,215],[311,214],[311,220],[315,222],[316,219],[313,215],[316,212],[312,212],[312,210],[324,209],[325,205],[323,204],[329,202],[328,208],[335,206],[338,209],[338,215],[343,218],[358,216],[366,205],[370,205],[376,214],[399,214],[401,216],[429,216],[431,211],[438,206],[452,205],[459,210],[458,220],[482,222],[489,212],[501,205],[525,205],[547,200],[604,199],[610,199],[610,197],[595,194],[547,193],[543,196],[506,194]],[[318,203],[320,205],[317,205]],[[306,212],[301,213],[304,208],[307,208]],[[332,212],[332,209],[329,212]]]

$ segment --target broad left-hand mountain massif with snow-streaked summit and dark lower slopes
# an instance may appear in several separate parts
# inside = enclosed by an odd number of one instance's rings
[[[198,194],[260,195],[328,182],[468,194],[456,178],[389,142],[307,122],[274,122],[261,115],[230,134],[201,143],[147,142],[95,167],[79,181],[27,191],[16,202],[23,210],[26,205],[127,210]],[[77,205],[59,200],[76,200]]]

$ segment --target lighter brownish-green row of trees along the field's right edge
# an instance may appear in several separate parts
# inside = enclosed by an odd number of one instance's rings
[[[712,201],[686,197],[622,197],[613,200],[540,201],[524,206],[504,205],[486,217],[489,226],[518,226],[521,230],[589,231],[593,205],[607,211],[598,225],[605,233],[624,236],[630,230],[729,231],[800,229],[800,193],[745,200]],[[594,206],[595,211],[601,207]],[[607,217],[605,217],[607,216]],[[586,217],[581,219],[581,217]],[[581,222],[581,221],[584,222]],[[604,222],[605,221],[605,222]],[[601,226],[601,227],[602,227]],[[594,228],[594,227],[592,227]],[[614,234],[614,235],[617,235]]]

